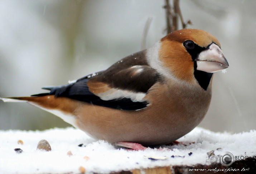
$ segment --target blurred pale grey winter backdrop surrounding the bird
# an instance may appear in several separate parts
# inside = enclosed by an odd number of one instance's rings
[[[30,96],[108,68],[166,35],[164,0],[0,0],[0,96]],[[199,125],[231,133],[256,129],[256,1],[182,0],[188,28],[222,44],[230,67],[217,72]],[[179,26],[181,29],[181,25]],[[0,130],[70,126],[27,103],[0,101]]]

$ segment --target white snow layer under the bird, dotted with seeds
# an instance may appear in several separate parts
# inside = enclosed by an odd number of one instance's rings
[[[42,139],[49,142],[52,151],[37,150],[37,144]],[[211,163],[206,163],[206,157],[211,150],[216,156],[224,152],[234,156],[256,155],[256,130],[229,134],[196,127],[178,141],[182,144],[132,151],[116,149],[110,143],[94,140],[73,127],[45,131],[0,131],[0,173],[79,173],[81,167],[86,173],[110,173],[167,165],[208,165]],[[83,145],[79,147],[80,144]],[[23,152],[17,153],[15,148]]]

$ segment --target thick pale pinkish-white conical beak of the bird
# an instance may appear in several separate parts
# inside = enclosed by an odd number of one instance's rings
[[[217,72],[229,66],[221,49],[214,43],[202,51],[195,61],[197,61],[197,70],[208,73]]]

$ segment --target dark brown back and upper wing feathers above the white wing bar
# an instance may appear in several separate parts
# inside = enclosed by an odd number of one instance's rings
[[[101,93],[112,95],[117,90],[146,93],[159,81],[159,74],[146,61],[146,50],[131,54],[113,64],[106,71],[88,79],[90,92],[97,96]]]

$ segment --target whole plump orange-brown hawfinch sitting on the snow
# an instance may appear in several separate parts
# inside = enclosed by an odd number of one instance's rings
[[[227,67],[213,35],[183,29],[104,71],[44,87],[49,93],[1,99],[28,102],[93,138],[142,150],[194,129],[209,108],[213,73]]]

